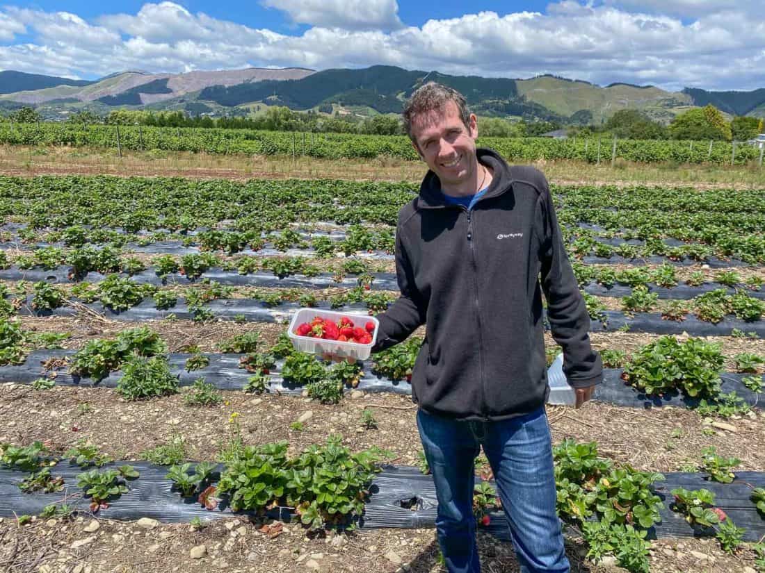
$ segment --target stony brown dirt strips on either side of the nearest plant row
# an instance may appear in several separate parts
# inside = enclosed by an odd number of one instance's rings
[[[394,463],[416,464],[420,444],[415,406],[408,397],[355,393],[337,406],[324,406],[301,397],[239,392],[223,396],[226,403],[205,408],[185,406],[181,395],[132,403],[105,388],[37,391],[5,384],[0,387],[0,442],[40,439],[63,452],[84,438],[114,458],[135,460],[145,449],[181,435],[187,458],[212,460],[231,436],[226,420],[237,412],[246,443],[287,439],[291,452],[298,452],[339,433],[353,450],[378,445],[394,453]],[[363,428],[364,409],[373,412],[376,429]],[[292,429],[291,422],[308,412],[303,429]],[[698,461],[708,445],[715,445],[720,455],[741,458],[741,469],[765,466],[765,413],[728,421],[732,430],[715,428],[711,419],[674,408],[644,411],[591,402],[580,410],[549,406],[548,415],[555,443],[565,438],[597,440],[601,455],[643,470],[688,469],[685,466]],[[188,524],[99,520],[96,526],[92,521],[89,516],[66,523],[37,519],[18,526],[5,518],[0,523],[0,570],[444,571],[437,562],[432,529],[365,529],[350,536],[309,539],[294,524],[271,537],[264,532],[275,533],[278,526],[271,523],[270,529],[260,531],[262,523],[243,518],[211,523],[201,531]],[[588,562],[575,533],[570,538],[572,571],[616,570]],[[200,545],[205,555],[191,558],[192,549]],[[479,546],[484,570],[517,571],[509,544],[480,533]],[[733,573],[747,571],[744,567],[753,562],[754,555],[746,550],[724,555],[715,541],[662,539],[655,543],[651,570]]]

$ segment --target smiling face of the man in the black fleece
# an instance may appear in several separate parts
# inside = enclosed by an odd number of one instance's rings
[[[447,102],[412,122],[415,150],[442,186],[455,186],[470,180],[477,169],[476,116],[470,114],[468,125],[462,123],[457,104]]]

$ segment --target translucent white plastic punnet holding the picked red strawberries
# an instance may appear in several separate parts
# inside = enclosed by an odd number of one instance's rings
[[[340,342],[338,340],[325,340],[324,338],[311,338],[311,336],[299,336],[295,334],[295,329],[303,322],[311,322],[315,316],[321,316],[322,319],[332,319],[338,322],[343,316],[347,316],[353,321],[353,325],[361,329],[367,322],[374,322],[375,329],[372,332],[372,342],[368,345],[358,344],[356,342]],[[356,360],[366,360],[372,354],[372,347],[377,340],[377,330],[379,321],[374,316],[363,314],[353,314],[350,312],[335,312],[334,310],[320,309],[299,309],[292,316],[289,324],[289,338],[295,350],[301,352],[310,352],[311,354],[335,354],[343,358],[355,358]]]

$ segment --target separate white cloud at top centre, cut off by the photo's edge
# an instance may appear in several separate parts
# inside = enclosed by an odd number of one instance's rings
[[[396,0],[261,0],[266,8],[287,12],[297,24],[346,30],[402,28]]]

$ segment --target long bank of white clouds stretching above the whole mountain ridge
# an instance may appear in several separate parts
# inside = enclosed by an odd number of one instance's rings
[[[308,14],[311,5],[301,6]],[[287,9],[284,3],[280,7]],[[668,89],[765,86],[765,21],[744,8],[688,23],[672,15],[565,0],[550,5],[546,14],[486,11],[387,31],[340,27],[336,20],[332,26],[313,22],[299,35],[191,14],[172,2],[145,4],[135,15],[105,15],[96,23],[66,12],[20,8],[5,8],[5,18],[26,24],[37,37],[34,44],[0,46],[0,69],[55,75],[389,64],[482,76],[555,73],[601,85],[653,83]]]

